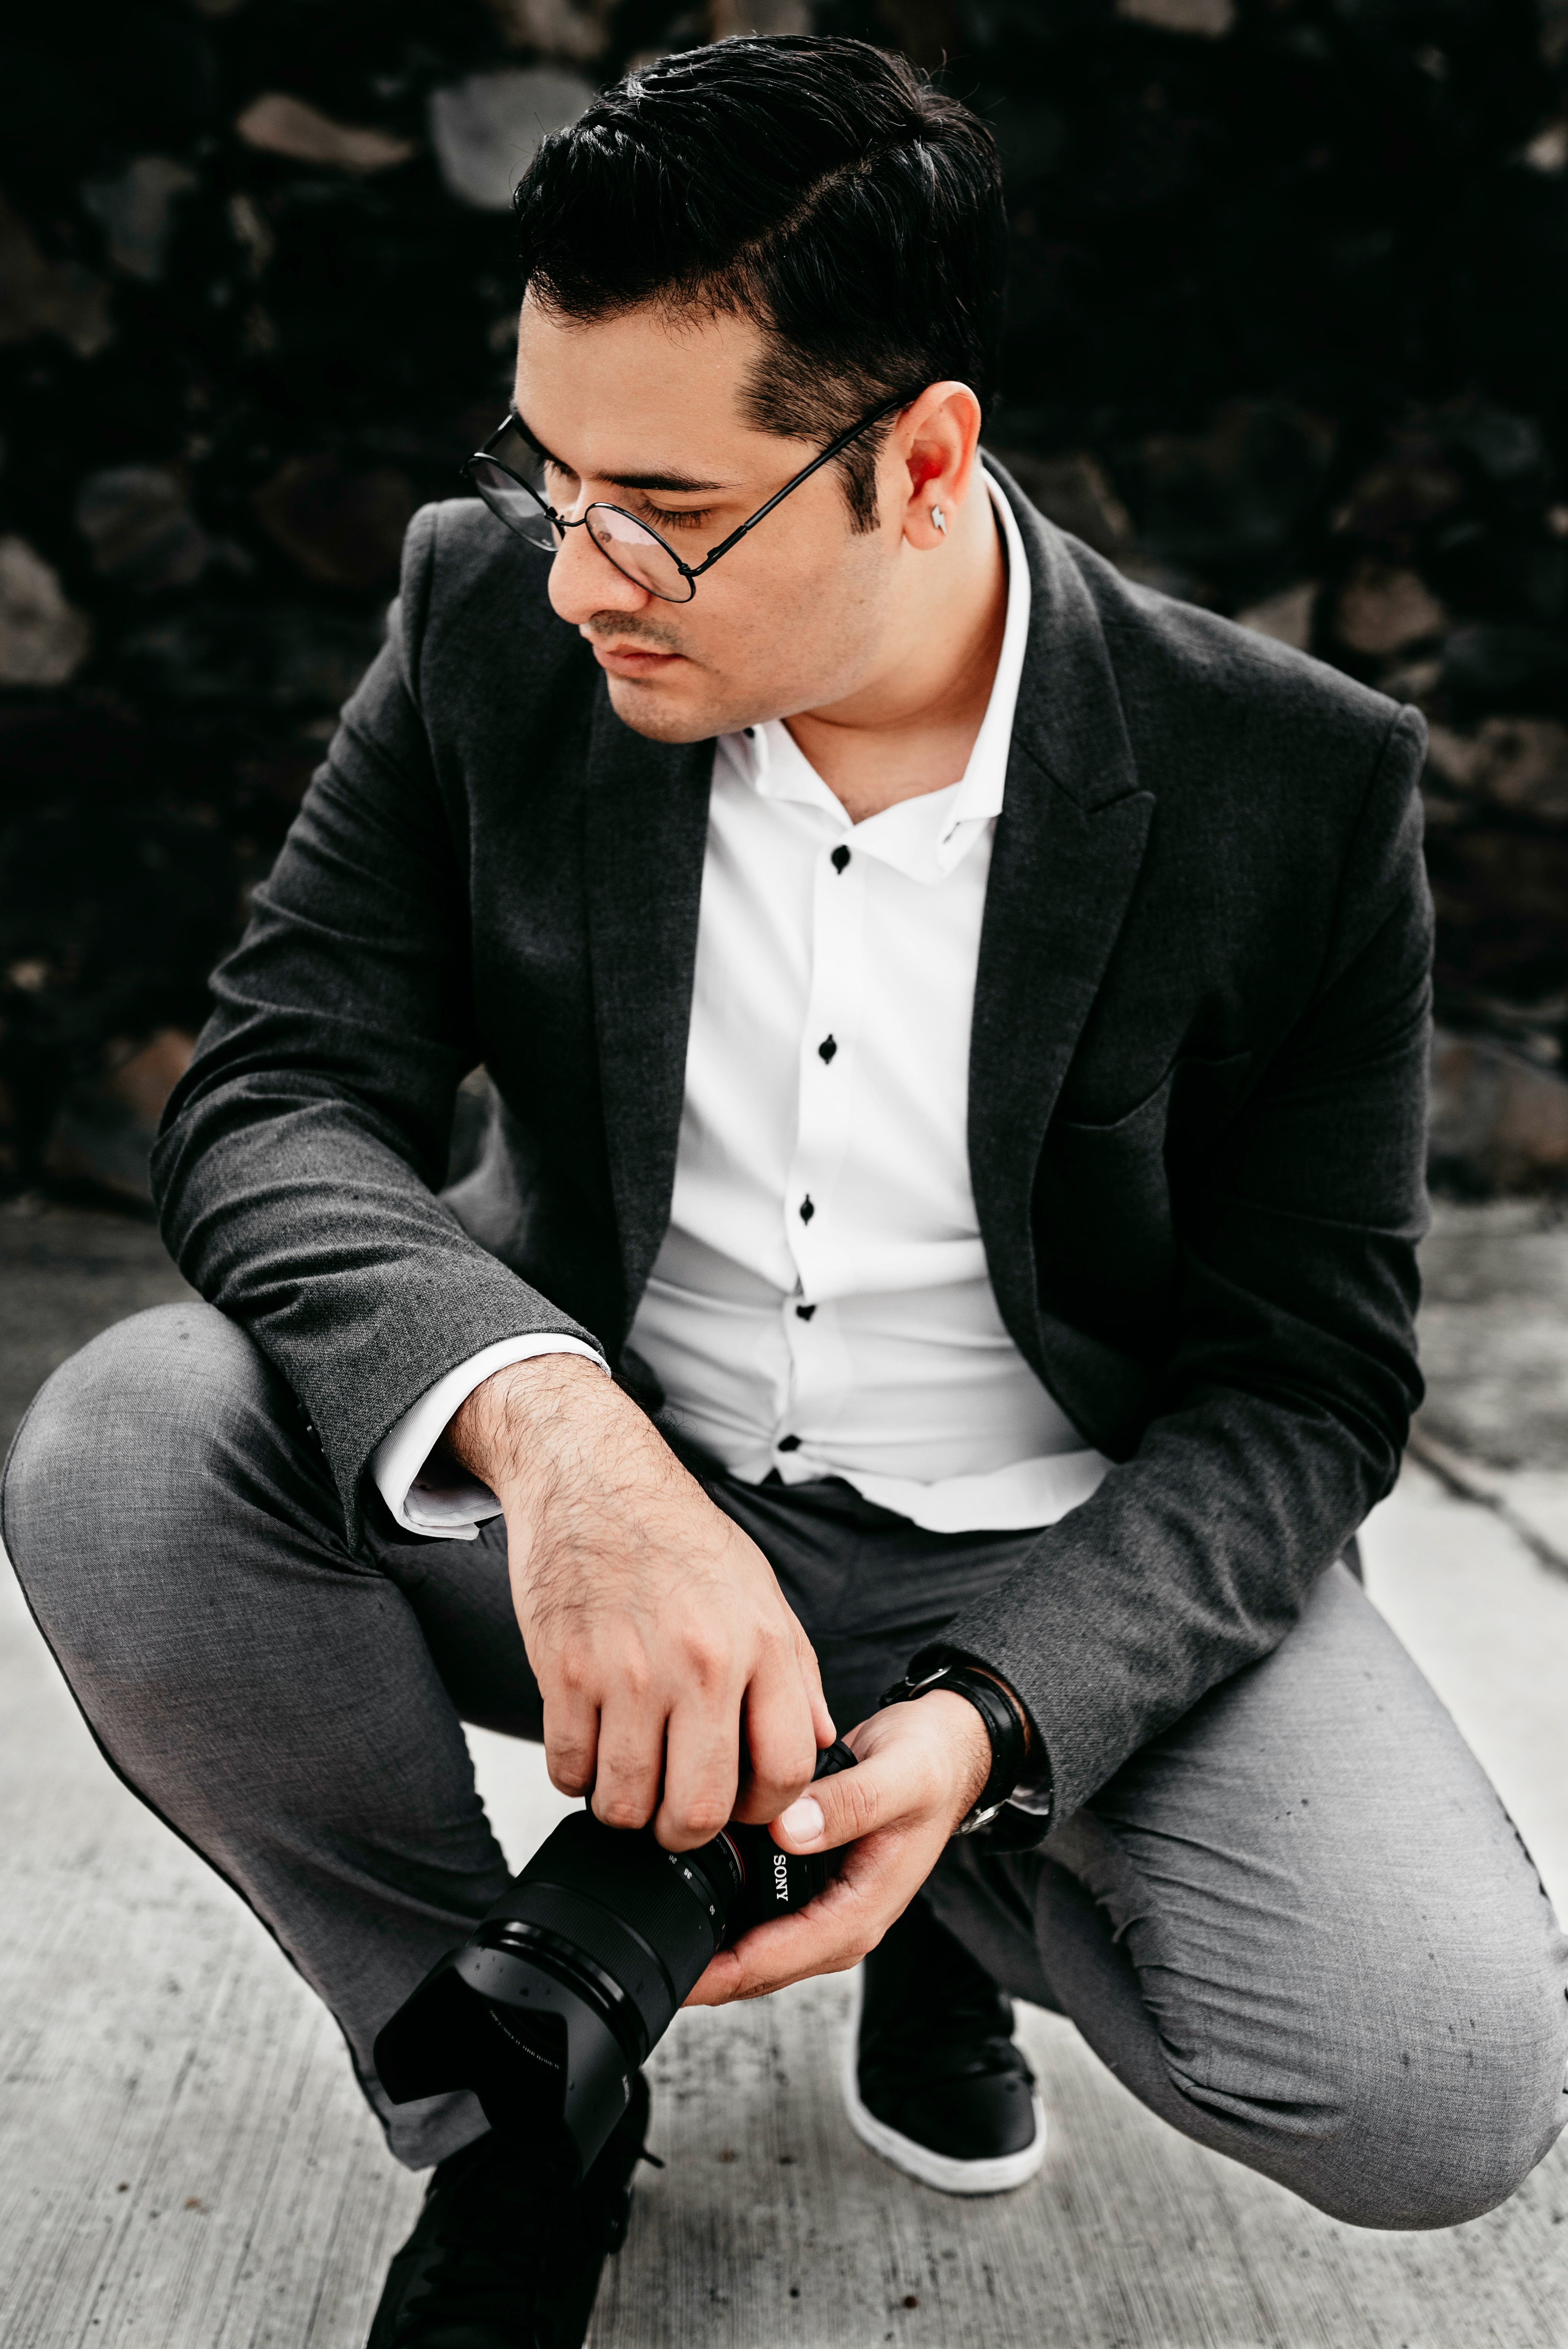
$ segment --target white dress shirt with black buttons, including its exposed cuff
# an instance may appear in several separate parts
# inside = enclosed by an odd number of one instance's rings
[[[714,754],[671,1219],[629,1344],[732,1475],[836,1475],[934,1532],[1052,1525],[1108,1461],[1014,1346],[967,1151],[969,1024],[1028,639],[1019,526],[991,702],[960,782],[852,824],[784,723]],[[507,1362],[488,1346],[392,1428],[373,1475],[415,1534],[495,1499],[427,1456]],[[594,1360],[599,1360],[594,1355]]]

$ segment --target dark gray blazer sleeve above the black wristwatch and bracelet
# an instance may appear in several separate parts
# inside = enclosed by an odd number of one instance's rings
[[[1422,749],[1420,716],[1401,712],[1307,1010],[1178,1196],[1178,1339],[1136,1454],[941,1642],[1028,1705],[1056,1818],[1279,1644],[1399,1473],[1422,1395]]]

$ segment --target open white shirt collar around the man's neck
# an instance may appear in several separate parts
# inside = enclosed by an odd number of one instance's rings
[[[984,482],[1007,550],[1007,618],[986,716],[958,782],[944,792],[901,799],[897,806],[883,808],[880,815],[852,824],[782,719],[721,738],[723,754],[761,799],[817,808],[838,832],[854,832],[857,848],[864,848],[866,855],[897,864],[915,881],[941,881],[953,871],[984,824],[1002,813],[1007,787],[1007,752],[1028,646],[1030,583],[1014,512],[988,470],[984,470]]]

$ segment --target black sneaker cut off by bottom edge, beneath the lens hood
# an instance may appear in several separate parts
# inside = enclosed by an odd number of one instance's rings
[[[575,2194],[491,2133],[441,2161],[387,2269],[366,2349],[582,2349],[606,2257],[627,2239],[648,2133],[636,2081]]]

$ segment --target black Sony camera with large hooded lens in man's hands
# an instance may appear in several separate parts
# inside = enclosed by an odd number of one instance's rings
[[[838,1741],[815,1776],[852,1766]],[[380,2084],[394,2105],[472,2088],[493,2128],[526,2131],[577,2185],[714,1952],[826,1879],[829,1856],[779,1851],[768,1828],[730,1820],[664,1851],[653,1828],[575,1811],[385,2025]]]

